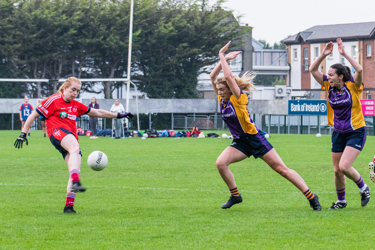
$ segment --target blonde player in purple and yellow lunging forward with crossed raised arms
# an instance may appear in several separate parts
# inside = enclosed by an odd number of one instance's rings
[[[217,170],[231,193],[229,200],[222,205],[222,208],[231,208],[234,204],[242,202],[234,175],[228,166],[254,156],[255,159],[264,160],[274,171],[290,181],[306,196],[314,211],[320,211],[318,196],[310,191],[296,171],[284,164],[276,150],[264,137],[264,133],[255,126],[254,121],[250,118],[247,109],[248,97],[243,91],[249,91],[251,95],[251,91],[255,90],[252,84],[255,75],[246,72],[240,78],[232,74],[228,61],[236,58],[241,51],[233,51],[224,56],[230,43],[231,41],[220,49],[220,62],[210,73],[212,87],[220,103],[221,117],[234,138],[233,143],[225,148],[216,160]],[[221,70],[223,70],[224,76],[218,78]]]

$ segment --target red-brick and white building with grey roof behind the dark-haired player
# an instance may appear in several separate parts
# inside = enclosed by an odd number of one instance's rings
[[[290,81],[293,91],[305,91],[306,99],[326,99],[326,91],[312,77],[309,66],[320,55],[329,42],[333,42],[332,53],[321,63],[321,71],[327,75],[335,63],[348,66],[350,63],[338,52],[336,39],[341,37],[345,51],[363,67],[365,89],[361,99],[375,98],[375,22],[314,26],[290,36],[281,42],[288,50]]]

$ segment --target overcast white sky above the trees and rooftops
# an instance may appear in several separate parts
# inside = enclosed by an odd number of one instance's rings
[[[228,0],[223,4],[242,24],[254,27],[254,39],[272,46],[316,25],[375,22],[375,0]]]

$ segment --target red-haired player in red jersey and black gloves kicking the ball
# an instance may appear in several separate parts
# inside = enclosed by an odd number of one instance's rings
[[[84,192],[86,188],[80,183],[81,150],[78,144],[78,135],[75,120],[81,115],[87,114],[92,117],[133,118],[132,113],[112,113],[103,109],[91,109],[88,106],[74,100],[81,90],[81,81],[75,77],[69,77],[60,86],[57,94],[54,94],[38,106],[27,118],[20,137],[15,142],[15,147],[22,148],[26,141],[26,132],[33,121],[40,115],[45,118],[48,136],[55,148],[63,155],[68,165],[70,177],[67,186],[66,203],[63,213],[77,213],[73,209],[77,192]]]

